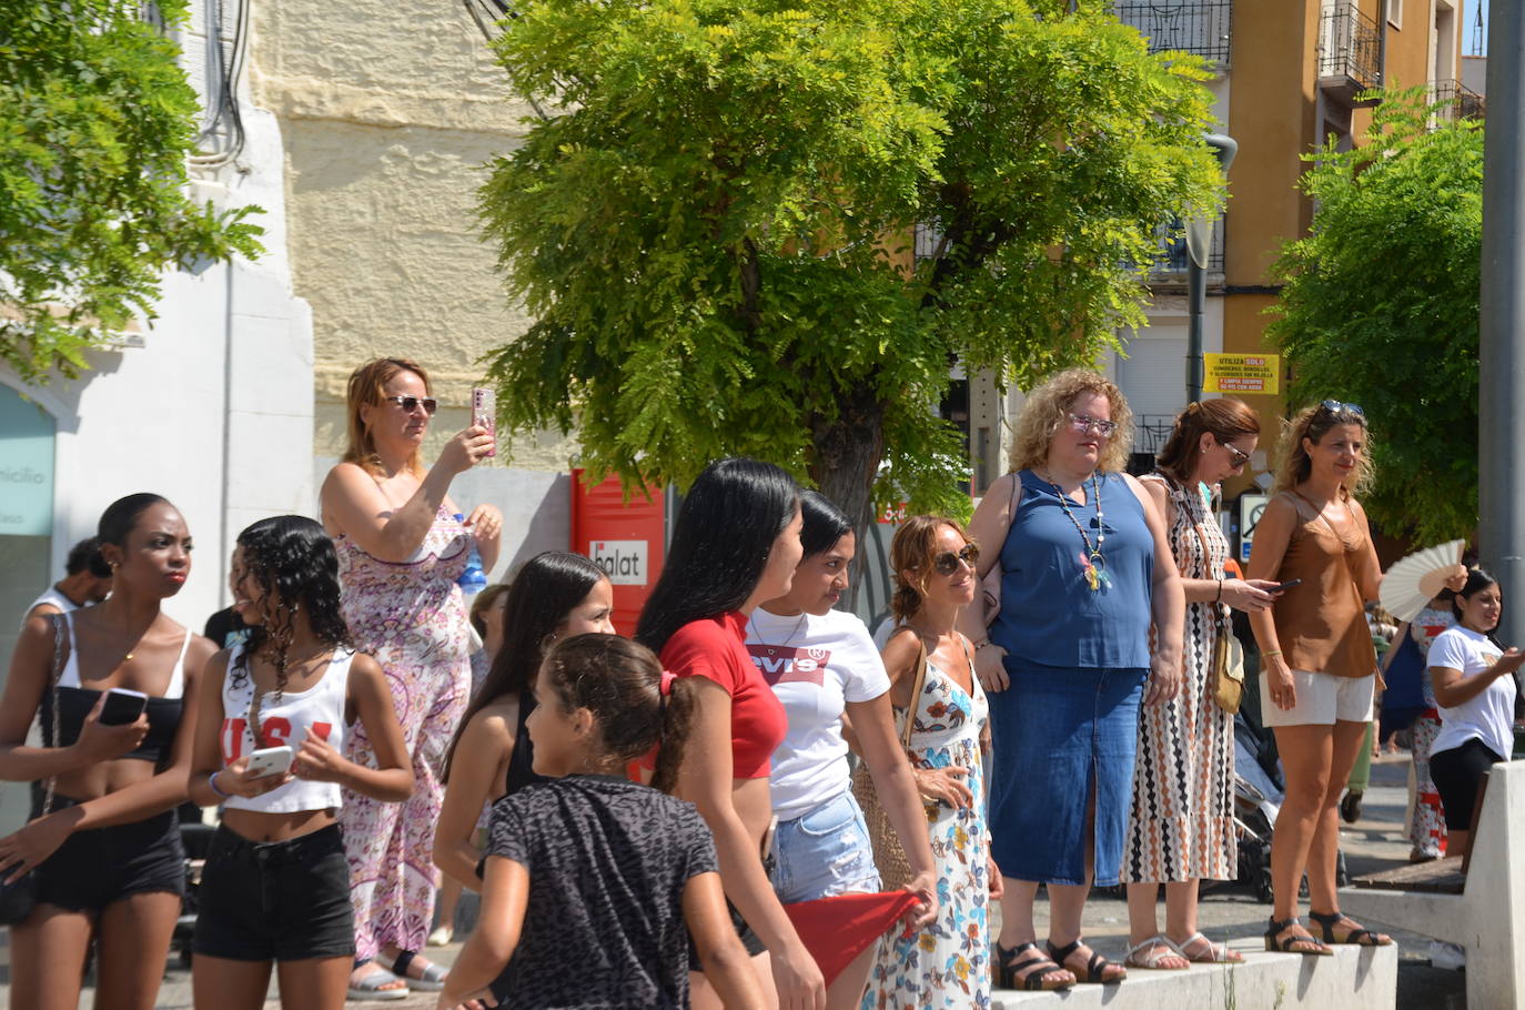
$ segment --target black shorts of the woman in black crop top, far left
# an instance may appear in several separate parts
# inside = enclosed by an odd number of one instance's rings
[[[53,796],[50,810],[78,806]],[[37,813],[37,812],[34,812]],[[131,824],[75,831],[37,868],[37,902],[101,911],[133,894],[186,893],[186,853],[174,810]]]

